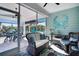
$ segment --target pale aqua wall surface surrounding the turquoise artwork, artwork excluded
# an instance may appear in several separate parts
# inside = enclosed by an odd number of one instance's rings
[[[65,29],[64,28],[60,29],[61,34],[68,34],[69,32],[79,32],[79,6],[77,6],[71,9],[52,13],[47,20],[47,34],[50,34],[49,31],[50,28],[54,29],[53,19],[56,16],[60,16],[60,15],[68,16],[67,27],[65,27]],[[56,33],[56,31],[54,31],[54,33]]]

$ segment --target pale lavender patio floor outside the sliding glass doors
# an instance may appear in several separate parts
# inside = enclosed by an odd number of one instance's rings
[[[20,47],[21,51],[25,50],[27,48],[27,46],[28,46],[28,41],[23,39],[21,41],[20,46],[21,46]],[[5,52],[5,51],[10,50],[10,49],[14,49],[16,47],[18,47],[17,41],[15,41],[15,42],[11,41],[11,42],[2,43],[2,44],[0,44],[0,53]]]

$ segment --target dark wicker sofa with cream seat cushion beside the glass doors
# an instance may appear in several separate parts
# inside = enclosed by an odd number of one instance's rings
[[[27,51],[30,55],[39,55],[40,51],[48,47],[48,38],[42,39],[40,33],[28,33],[26,38],[29,43]]]

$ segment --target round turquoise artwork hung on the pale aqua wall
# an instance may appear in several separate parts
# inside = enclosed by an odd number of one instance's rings
[[[67,15],[60,15],[60,16],[55,16],[53,20],[53,26],[54,29],[63,29],[66,28],[68,24],[68,16]]]

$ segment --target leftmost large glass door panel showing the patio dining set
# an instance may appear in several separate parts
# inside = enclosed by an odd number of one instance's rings
[[[12,50],[18,47],[17,14],[17,4],[0,4],[0,55],[16,54],[16,51],[12,53]]]

